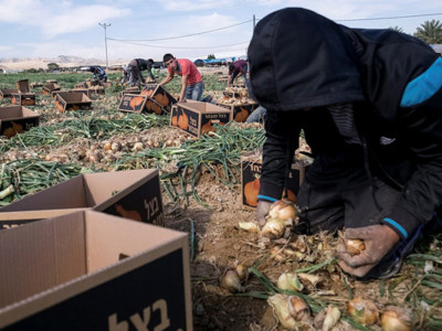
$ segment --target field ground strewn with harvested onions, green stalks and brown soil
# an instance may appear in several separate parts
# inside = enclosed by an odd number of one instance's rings
[[[0,89],[19,79],[70,89],[86,78],[0,75]],[[124,87],[118,73],[109,78],[91,110],[60,113],[31,89],[40,126],[0,138],[0,206],[84,172],[156,168],[166,226],[189,234],[196,330],[442,330],[442,235],[421,243],[396,277],[357,281],[337,265],[337,234],[248,231],[254,211],[241,204],[240,158],[262,147],[263,127],[233,122],[197,140],[167,115],[118,111]],[[222,95],[217,74],[203,78],[204,95]],[[176,95],[173,81],[166,89]]]

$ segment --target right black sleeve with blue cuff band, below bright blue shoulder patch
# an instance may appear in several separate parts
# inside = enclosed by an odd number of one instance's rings
[[[403,188],[396,209],[382,224],[407,238],[429,222],[442,202],[442,88],[424,103],[398,111],[402,138],[417,170]]]

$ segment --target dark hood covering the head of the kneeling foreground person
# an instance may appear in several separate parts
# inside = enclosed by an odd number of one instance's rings
[[[265,108],[295,110],[362,100],[356,52],[340,25],[306,9],[262,19],[249,46],[251,86]]]

